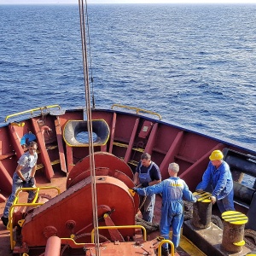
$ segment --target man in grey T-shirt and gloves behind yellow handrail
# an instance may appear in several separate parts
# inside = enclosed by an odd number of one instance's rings
[[[9,222],[9,208],[13,205],[15,201],[15,194],[20,188],[35,188],[35,174],[37,170],[37,154],[38,144],[35,142],[29,143],[28,151],[22,154],[18,160],[18,166],[16,167],[13,176],[13,187],[12,194],[9,195],[9,199],[6,202],[5,208],[3,210],[3,216],[1,217],[3,224],[8,225]],[[28,194],[27,201],[32,201],[34,198],[35,191],[31,190]]]

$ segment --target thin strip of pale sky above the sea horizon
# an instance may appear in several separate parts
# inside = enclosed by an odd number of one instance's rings
[[[0,0],[0,4],[78,4],[78,0]],[[87,3],[254,3],[255,0],[87,0]]]

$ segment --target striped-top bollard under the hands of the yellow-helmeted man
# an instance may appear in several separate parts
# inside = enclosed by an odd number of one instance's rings
[[[194,192],[198,199],[193,204],[192,224],[199,229],[206,229],[211,224],[212,218],[212,201],[209,199],[212,196],[209,192]]]

